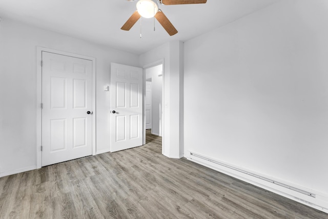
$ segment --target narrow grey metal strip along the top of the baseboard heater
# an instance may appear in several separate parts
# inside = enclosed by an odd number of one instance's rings
[[[295,188],[295,187],[292,187],[292,186],[289,186],[289,185],[286,185],[286,184],[283,184],[283,183],[279,183],[277,181],[274,181],[274,180],[271,180],[270,178],[265,178],[263,176],[260,176],[260,175],[257,175],[257,174],[254,174],[254,173],[250,173],[250,172],[247,172],[247,171],[244,171],[244,170],[241,170],[241,169],[238,169],[236,167],[233,167],[233,166],[230,166],[230,165],[227,165],[227,164],[223,164],[223,163],[220,163],[220,162],[217,162],[217,161],[214,161],[208,157],[204,157],[204,156],[201,156],[201,155],[198,155],[198,154],[195,154],[193,152],[190,152],[190,155],[191,156],[195,156],[195,157],[198,157],[198,158],[201,158],[202,160],[206,160],[206,161],[209,161],[211,163],[214,163],[214,164],[217,164],[217,165],[220,165],[220,166],[223,166],[223,167],[227,167],[229,169],[232,169],[232,170],[236,170],[238,172],[241,172],[241,173],[244,173],[244,174],[247,174],[247,175],[251,175],[251,176],[254,176],[256,178],[259,178],[261,180],[264,180],[264,181],[267,181],[267,182],[270,182],[270,183],[273,183],[273,184],[276,184],[278,186],[282,186],[284,188],[288,188],[288,189],[291,189],[293,191],[296,191],[296,192],[300,192],[304,195],[309,195],[311,197],[316,197],[315,194],[311,193],[311,192],[307,192],[307,191],[304,191],[304,190],[301,190],[301,189],[298,189],[298,188]],[[192,159],[192,158],[191,158]]]

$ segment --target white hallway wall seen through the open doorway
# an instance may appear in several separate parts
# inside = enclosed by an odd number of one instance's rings
[[[152,133],[162,136],[162,86],[163,65],[147,68],[146,80],[152,82]]]

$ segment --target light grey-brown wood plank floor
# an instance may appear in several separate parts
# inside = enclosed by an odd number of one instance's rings
[[[0,178],[0,218],[328,218],[184,158],[161,138]]]

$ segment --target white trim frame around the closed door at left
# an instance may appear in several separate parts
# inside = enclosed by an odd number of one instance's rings
[[[70,52],[49,49],[45,47],[36,47],[36,168],[42,165],[42,52],[56,53],[76,58],[84,58],[92,61],[92,155],[96,154],[96,58],[74,54]]]

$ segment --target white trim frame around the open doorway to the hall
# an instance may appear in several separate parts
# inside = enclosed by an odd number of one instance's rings
[[[146,144],[146,114],[145,114],[145,99],[146,99],[146,69],[147,68],[152,68],[152,67],[155,67],[155,66],[158,66],[158,65],[162,65],[162,102],[164,102],[164,77],[165,77],[165,69],[164,69],[164,59],[159,59],[158,61],[156,62],[153,62],[153,63],[150,63],[150,64],[147,64],[145,65],[144,67],[142,67],[142,69],[144,69],[144,98],[143,98],[143,101],[142,101],[142,104],[144,105],[144,110],[142,111],[142,117],[143,117],[143,123],[144,123],[144,127],[142,127],[142,131],[143,131],[143,134],[144,134],[144,145]],[[164,104],[162,104],[162,154],[164,153],[165,151],[165,142],[164,142],[164,135],[165,135],[165,129],[164,129],[164,116],[165,116],[165,111],[164,111]]]

